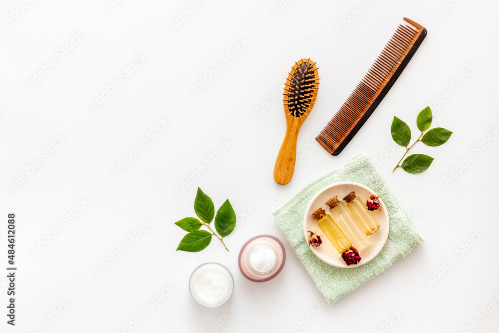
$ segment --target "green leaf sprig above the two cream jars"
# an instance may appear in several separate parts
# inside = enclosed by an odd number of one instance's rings
[[[229,236],[236,227],[236,213],[234,212],[229,199],[220,206],[217,215],[215,215],[215,205],[213,204],[212,199],[198,187],[198,193],[194,200],[194,211],[201,221],[195,217],[186,217],[175,222],[180,228],[189,232],[180,241],[177,251],[199,252],[210,245],[212,236],[217,237],[222,242],[225,249],[229,251],[223,238]],[[215,229],[217,230],[218,235],[210,227],[214,215]],[[211,233],[207,230],[200,230],[201,226],[208,227]]]

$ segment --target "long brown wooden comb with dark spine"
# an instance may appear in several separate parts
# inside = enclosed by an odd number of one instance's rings
[[[427,30],[400,24],[362,81],[315,138],[329,154],[338,155],[374,112],[418,49]]]

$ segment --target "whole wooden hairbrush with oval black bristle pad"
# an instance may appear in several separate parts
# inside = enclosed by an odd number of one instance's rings
[[[319,76],[315,62],[301,59],[295,62],[284,86],[284,113],[286,134],[274,167],[274,179],[278,184],[289,183],[296,160],[296,139],[317,98]]]

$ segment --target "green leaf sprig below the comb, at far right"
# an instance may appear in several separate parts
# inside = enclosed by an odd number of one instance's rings
[[[395,169],[397,168],[402,168],[409,173],[420,173],[430,167],[433,162],[433,157],[430,157],[428,155],[413,154],[408,156],[404,160],[404,162],[402,162],[402,159],[405,157],[409,149],[411,149],[418,141],[421,141],[427,146],[431,147],[437,147],[447,142],[452,132],[445,128],[436,127],[425,133],[425,131],[430,128],[432,120],[432,110],[429,106],[427,106],[418,114],[418,118],[416,119],[418,129],[421,131],[421,135],[409,147],[409,143],[411,141],[411,129],[409,128],[409,125],[407,125],[399,118],[393,117],[391,127],[392,138],[397,144],[406,147],[406,152],[400,159],[399,163],[397,163],[397,166],[393,169],[393,171],[395,171]],[[400,162],[402,162],[402,165],[400,165]]]

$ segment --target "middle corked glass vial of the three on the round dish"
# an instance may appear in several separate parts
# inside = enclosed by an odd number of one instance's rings
[[[338,200],[338,196],[334,196],[326,201],[326,205],[329,206],[329,212],[333,219],[352,241],[354,248],[361,252],[371,245],[371,241],[366,236],[364,230],[355,222],[354,217],[350,214],[345,204]]]

